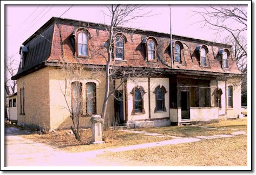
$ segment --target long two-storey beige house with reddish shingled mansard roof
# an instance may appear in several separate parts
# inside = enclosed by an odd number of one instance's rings
[[[232,46],[212,41],[170,36],[167,33],[120,28],[113,39],[115,67],[160,71],[122,82],[117,98],[108,99],[106,116],[128,127],[160,127],[189,122],[218,121],[241,113],[241,72]],[[132,31],[132,32],[130,32]],[[69,128],[67,104],[76,98],[75,80],[64,78],[60,62],[80,62],[83,80],[81,126],[101,115],[106,80],[94,72],[106,60],[94,55],[108,42],[104,25],[52,17],[20,48],[17,80],[18,124],[51,129]],[[170,57],[172,49],[173,59]],[[106,53],[103,53],[107,55]],[[103,70],[103,69],[102,69]],[[101,74],[102,75],[102,74]],[[68,89],[67,103],[63,89]],[[87,92],[94,94],[88,100]],[[73,109],[74,110],[74,109]]]

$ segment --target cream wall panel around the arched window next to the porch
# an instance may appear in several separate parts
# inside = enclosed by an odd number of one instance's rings
[[[165,94],[165,112],[155,112],[156,101],[155,101],[155,88],[157,86],[163,86],[166,88],[167,93]],[[150,78],[150,118],[166,118],[169,117],[169,78]]]

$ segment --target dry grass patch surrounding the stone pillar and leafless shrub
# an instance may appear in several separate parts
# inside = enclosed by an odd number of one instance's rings
[[[82,152],[82,151],[90,151],[104,148],[115,148],[119,146],[126,145],[135,145],[141,143],[149,143],[149,142],[158,142],[164,141],[170,138],[159,138],[153,136],[147,136],[143,134],[134,134],[123,131],[114,131],[115,138],[105,137],[104,144],[89,144],[91,141],[91,130],[87,129],[82,132],[82,140],[81,142],[77,142],[74,135],[66,135],[65,132],[70,130],[60,130],[57,131],[56,134],[30,134],[30,135],[22,135],[22,137],[27,139],[32,139],[35,142],[45,143],[55,148],[59,148],[68,152]],[[105,135],[113,135],[113,132],[104,132]]]

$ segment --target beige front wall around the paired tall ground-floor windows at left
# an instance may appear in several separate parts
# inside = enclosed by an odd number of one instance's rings
[[[61,69],[51,67],[50,69],[50,125],[53,129],[58,128],[69,128],[72,125],[72,120],[70,118],[70,113],[68,107],[71,107],[71,82],[77,81],[75,79],[70,79],[70,76],[64,76]],[[102,75],[91,71],[84,71],[81,75],[82,79],[80,81],[83,84],[83,114],[86,114],[86,83],[94,82],[96,84],[96,113],[101,115],[102,104],[104,101],[105,92],[105,79]],[[65,82],[65,78],[67,81]],[[66,86],[66,94],[65,92]],[[67,102],[66,102],[66,100]],[[113,98],[109,98],[106,117],[111,117],[114,115],[114,102]],[[90,126],[90,117],[83,116],[80,118],[81,127]]]

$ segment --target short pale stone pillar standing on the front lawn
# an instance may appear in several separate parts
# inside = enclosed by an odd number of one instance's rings
[[[103,120],[100,115],[91,116],[91,144],[105,143],[102,141],[102,123]]]

